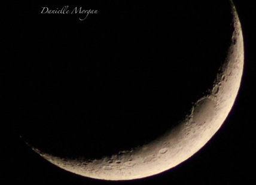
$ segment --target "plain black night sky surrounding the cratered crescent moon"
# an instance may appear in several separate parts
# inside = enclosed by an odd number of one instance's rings
[[[147,143],[211,88],[230,42],[228,3],[13,2],[2,10],[1,184],[253,183],[255,11],[234,1],[245,41],[236,103],[199,152],[169,171],[132,181],[66,172],[20,135],[60,156],[98,157]],[[99,14],[40,14],[41,7]],[[170,123],[172,123],[170,125]]]

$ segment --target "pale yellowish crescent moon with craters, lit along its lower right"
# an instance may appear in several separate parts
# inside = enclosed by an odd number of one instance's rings
[[[200,150],[218,131],[239,91],[243,72],[243,36],[232,1],[233,35],[227,58],[221,64],[214,85],[198,98],[190,113],[161,137],[130,150],[100,159],[66,159],[33,147],[52,164],[85,177],[102,180],[132,180],[159,174],[181,164]],[[29,145],[30,146],[30,145]]]

